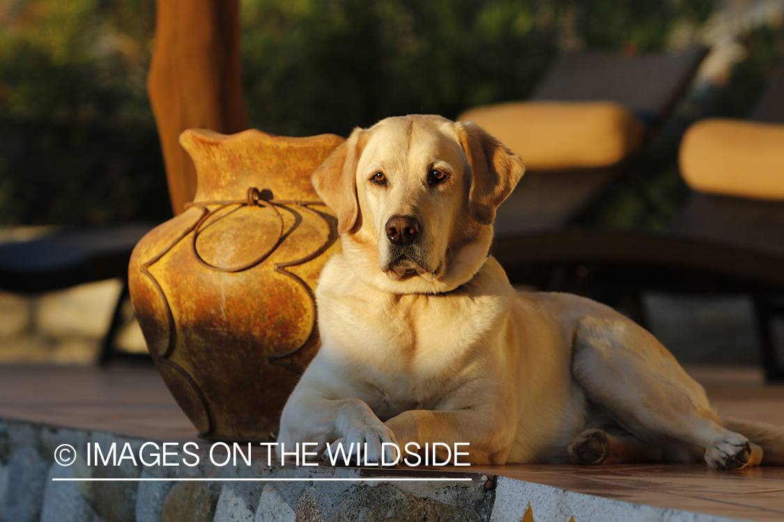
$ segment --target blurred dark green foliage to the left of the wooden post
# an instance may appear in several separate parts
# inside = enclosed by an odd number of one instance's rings
[[[154,0],[0,5],[0,223],[164,219]]]

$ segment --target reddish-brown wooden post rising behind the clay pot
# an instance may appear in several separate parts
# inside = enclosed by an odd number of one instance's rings
[[[238,0],[158,0],[147,93],[158,125],[174,214],[193,200],[196,170],[180,132],[243,131]]]

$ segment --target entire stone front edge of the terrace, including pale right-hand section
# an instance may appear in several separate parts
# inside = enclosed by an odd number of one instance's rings
[[[88,466],[88,443],[126,444],[138,455],[143,441],[97,430],[48,427],[0,419],[0,520],[41,522],[343,522],[349,520],[465,520],[485,522],[728,522],[724,517],[644,506],[564,488],[434,470],[363,470],[356,467],[216,466],[209,452],[196,466]],[[160,441],[158,441],[160,443]],[[55,448],[72,445],[72,466],[54,462]],[[188,455],[173,459],[182,463]],[[179,459],[179,460],[178,460]],[[169,461],[172,462],[172,461]],[[471,481],[394,481],[402,477],[471,477]],[[126,481],[53,481],[110,478]],[[182,479],[208,479],[182,481]],[[308,481],[341,478],[352,481]],[[393,479],[381,480],[378,479]],[[143,479],[135,481],[135,479]],[[145,480],[146,479],[146,480]],[[150,479],[156,479],[151,481]],[[164,479],[164,480],[157,480]],[[165,479],[171,479],[165,480]],[[244,480],[236,480],[244,479]],[[267,479],[267,481],[265,481]],[[297,479],[269,481],[268,479]]]

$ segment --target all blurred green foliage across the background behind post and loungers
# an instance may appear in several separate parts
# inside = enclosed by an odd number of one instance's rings
[[[249,122],[281,135],[347,135],[391,115],[456,117],[524,99],[559,49],[652,52],[688,41],[716,4],[241,0]],[[154,0],[0,0],[0,223],[169,214],[145,89],[153,29]],[[716,112],[747,112],[765,64],[782,56],[780,29],[769,31],[746,42],[750,59]],[[670,140],[635,165],[667,204],[683,194],[676,150]],[[597,216],[663,222],[629,191]]]

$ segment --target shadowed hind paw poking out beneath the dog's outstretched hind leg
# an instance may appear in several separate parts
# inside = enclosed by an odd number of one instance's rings
[[[575,464],[659,463],[662,450],[647,445],[632,434],[608,434],[603,430],[585,430],[568,447]]]

